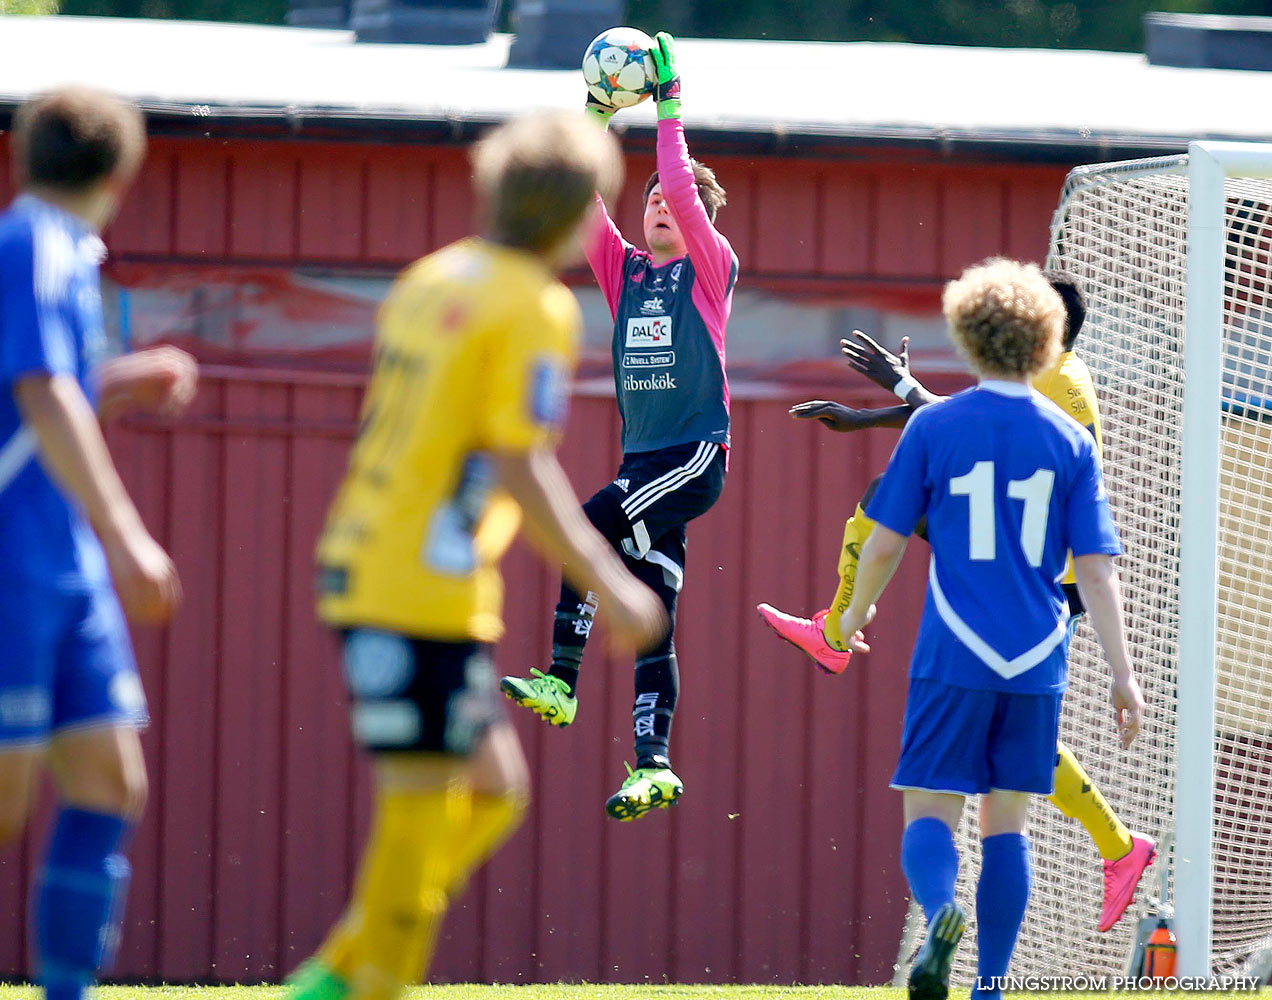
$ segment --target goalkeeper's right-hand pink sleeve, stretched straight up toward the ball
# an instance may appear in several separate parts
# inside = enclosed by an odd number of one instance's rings
[[[658,181],[663,188],[663,200],[681,228],[689,261],[693,262],[693,274],[697,276],[693,304],[722,352],[725,326],[733,308],[729,280],[733,277],[735,257],[729,240],[711,224],[702,198],[698,197],[698,186],[693,181],[693,167],[689,163],[689,146],[684,140],[684,125],[678,118],[664,118],[658,123]]]

